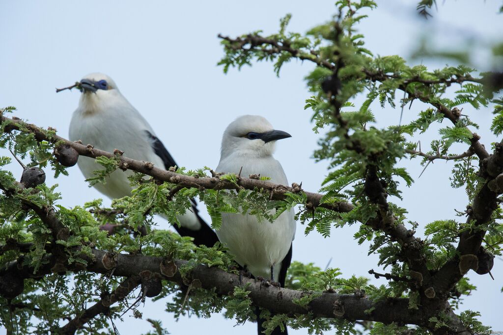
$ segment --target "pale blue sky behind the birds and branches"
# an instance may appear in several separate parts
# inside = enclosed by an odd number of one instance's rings
[[[435,36],[436,44],[444,48],[462,47],[465,37],[477,48],[474,63],[489,69],[486,43],[500,38],[503,31],[501,16],[496,15],[500,1],[439,1],[439,12],[429,21],[415,15],[416,1],[381,1],[377,10],[369,13],[360,31],[366,36],[367,48],[376,55],[408,56],[423,33]],[[275,126],[292,134],[281,141],[275,157],[282,163],[290,182],[303,182],[306,190],[316,191],[326,175],[326,163],[310,159],[318,136],[311,132],[311,112],[304,110],[309,97],[303,77],[313,67],[309,63],[292,61],[286,64],[277,78],[269,63],[245,67],[241,72],[231,69],[224,75],[216,63],[223,55],[217,34],[235,36],[257,29],[265,34],[277,31],[278,22],[292,13],[291,31],[305,32],[328,20],[334,13],[332,1],[3,1],[0,3],[0,105],[18,107],[17,117],[43,127],[54,127],[67,137],[71,113],[79,93],[64,91],[63,87],[90,72],[104,72],[114,78],[122,93],[150,122],[158,137],[174,158],[188,168],[204,165],[216,167],[219,159],[221,134],[237,116],[259,114]],[[479,49],[480,48],[480,49]],[[414,60],[414,63],[421,60]],[[424,60],[425,64],[431,64]],[[443,66],[444,61],[436,66]],[[411,120],[420,103],[414,102],[405,110],[403,122]],[[374,106],[379,125],[396,123],[400,110]],[[488,132],[491,120],[489,109],[479,111],[466,107],[464,114],[479,122],[482,142],[487,146],[494,140]],[[431,131],[421,137],[426,146],[435,136]],[[414,139],[417,140],[417,139]],[[465,148],[460,148],[464,151]],[[0,151],[2,155],[8,152]],[[422,168],[418,161],[402,161],[413,177]],[[409,219],[421,228],[438,218],[455,218],[454,208],[463,209],[467,203],[463,189],[450,189],[448,173],[452,163],[438,162],[410,189],[404,189],[402,205]],[[16,175],[21,169],[15,164]],[[62,205],[80,205],[101,197],[83,182],[75,166],[69,177],[57,180],[63,194]],[[49,185],[54,184],[48,177]],[[109,203],[108,199],[105,200]],[[200,206],[202,208],[202,206]],[[167,223],[159,219],[159,225]],[[323,239],[317,233],[304,236],[298,226],[294,241],[293,259],[314,262],[324,268],[339,267],[345,276],[366,275],[378,269],[377,257],[367,256],[367,247],[353,240],[357,227],[332,231]],[[468,277],[479,287],[474,296],[466,298],[462,309],[482,312],[482,321],[503,329],[498,303],[501,300],[503,262],[495,260],[493,275]],[[372,279],[376,284],[384,280]],[[211,319],[181,318],[175,322],[165,313],[163,300],[147,302],[141,308],[144,317],[160,319],[172,334],[196,332],[254,334],[256,324],[233,327],[233,320],[220,315]],[[149,323],[125,316],[118,323],[124,334],[145,332]],[[305,330],[291,331],[306,333]]]

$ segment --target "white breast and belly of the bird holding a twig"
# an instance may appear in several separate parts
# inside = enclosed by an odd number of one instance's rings
[[[152,149],[146,131],[155,135],[146,120],[121,93],[99,90],[97,93],[82,94],[70,122],[69,137],[72,141],[81,140],[85,145],[91,144],[108,152],[119,149],[124,151],[125,157],[151,162],[155,167],[164,169],[164,163]],[[103,169],[89,157],[80,156],[77,164],[86,178],[92,177],[93,171]],[[98,183],[95,187],[112,199],[130,195],[132,187],[127,177],[132,173],[130,170],[116,170],[105,179],[105,184]],[[177,217],[183,227],[192,230],[201,228],[199,219],[191,210]]]

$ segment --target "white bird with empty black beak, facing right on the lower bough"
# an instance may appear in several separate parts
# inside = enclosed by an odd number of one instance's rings
[[[264,117],[244,115],[225,129],[220,149],[218,173],[259,174],[273,183],[288,185],[283,167],[273,157],[276,141],[291,137],[274,130]],[[274,210],[274,209],[273,209]],[[261,276],[285,286],[287,269],[292,259],[295,238],[294,209],[284,211],[274,222],[259,222],[254,215],[221,213],[222,224],[216,231],[235,261],[256,278]],[[259,317],[259,334],[264,321]],[[273,334],[280,332],[277,327]]]

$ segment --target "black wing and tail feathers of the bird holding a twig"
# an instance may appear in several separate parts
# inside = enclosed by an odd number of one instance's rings
[[[145,132],[147,133],[148,138],[152,141],[152,149],[154,150],[155,154],[159,156],[160,159],[162,159],[164,168],[167,170],[170,167],[178,166],[171,154],[167,151],[166,147],[164,147],[162,142],[149,131]],[[199,216],[199,210],[196,207],[196,200],[191,199],[191,201],[192,211],[196,214],[201,224],[201,228],[197,231],[193,231],[185,227],[179,227],[178,225],[173,225],[173,227],[181,236],[190,236],[194,238],[194,244],[198,246],[205,245],[207,247],[213,247],[215,243],[218,242],[218,237],[210,228],[210,226],[208,226],[208,224],[203,220],[203,218]]]

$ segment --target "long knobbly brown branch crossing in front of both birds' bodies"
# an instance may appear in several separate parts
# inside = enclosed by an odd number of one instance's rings
[[[227,180],[219,179],[218,177],[204,177],[204,178],[196,178],[192,176],[187,176],[183,174],[179,174],[176,172],[172,172],[169,170],[164,170],[163,168],[156,168],[150,162],[142,162],[137,161],[131,158],[127,158],[125,156],[117,156],[113,153],[99,150],[93,148],[92,145],[83,145],[77,142],[68,141],[62,137],[57,135],[48,136],[45,131],[41,128],[36,127],[35,125],[29,125],[24,123],[21,120],[14,120],[7,118],[5,116],[1,116],[2,124],[8,122],[8,125],[3,126],[4,131],[27,131],[35,134],[35,138],[38,141],[48,141],[51,143],[58,144],[66,144],[81,155],[87,156],[91,158],[97,158],[100,156],[108,157],[108,158],[118,158],[120,160],[120,168],[121,169],[129,169],[132,171],[140,172],[149,176],[154,177],[157,180],[170,182],[177,184],[182,187],[197,187],[200,189],[262,189],[268,191],[271,194],[272,200],[282,200],[285,198],[286,192],[298,192],[298,189],[289,187],[286,185],[274,184],[268,181],[260,180],[260,179],[251,179],[251,178],[238,178],[237,183],[234,184]],[[126,148],[127,149],[127,148]],[[125,153],[127,155],[127,151]],[[237,173],[238,171],[236,171]],[[307,202],[312,207],[324,207],[338,212],[349,212],[353,209],[353,205],[348,202],[336,202],[333,204],[322,203],[320,204],[322,194],[305,192],[307,196]]]

